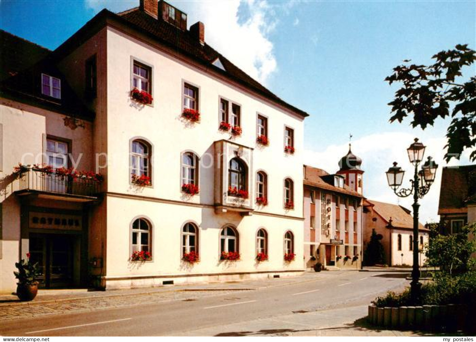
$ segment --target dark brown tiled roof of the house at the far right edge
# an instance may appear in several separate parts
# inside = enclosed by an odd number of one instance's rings
[[[443,168],[438,215],[466,213],[466,204],[475,198],[476,164]]]

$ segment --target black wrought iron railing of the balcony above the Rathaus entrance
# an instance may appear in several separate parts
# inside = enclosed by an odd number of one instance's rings
[[[17,178],[20,191],[33,190],[87,197],[97,197],[102,183],[96,177],[62,175],[35,168],[25,168],[18,173]]]

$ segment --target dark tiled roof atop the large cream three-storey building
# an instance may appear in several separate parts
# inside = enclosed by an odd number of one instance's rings
[[[114,14],[116,15],[116,14]],[[300,114],[301,116],[308,116],[308,114],[291,104],[281,100],[277,95],[270,92],[266,87],[248,76],[243,70],[231,63],[226,57],[218,53],[215,49],[210,47],[207,43],[200,44],[189,31],[183,31],[164,20],[158,20],[152,15],[139,10],[139,8],[127,10],[117,14],[122,19],[125,19],[129,24],[152,34],[160,43],[181,52],[201,64],[206,65],[215,72],[222,74],[234,81],[251,88],[255,92],[269,98],[270,100],[287,107],[291,111]],[[213,65],[213,62],[219,58],[225,70]]]

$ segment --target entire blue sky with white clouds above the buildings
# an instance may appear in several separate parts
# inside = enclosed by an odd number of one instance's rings
[[[409,170],[405,149],[418,136],[441,166],[448,122],[424,132],[388,123],[395,87],[384,78],[403,59],[428,63],[456,44],[476,47],[475,1],[170,1],[205,23],[205,39],[287,102],[307,111],[306,163],[337,171],[352,133],[364,160],[365,195],[397,202],[384,171]],[[54,49],[100,9],[139,0],[0,0],[0,27]],[[466,75],[475,68],[466,69]],[[469,164],[466,153],[460,161]],[[453,161],[453,164],[456,161]],[[440,171],[441,174],[441,171]],[[438,186],[436,186],[438,184]],[[439,182],[422,203],[436,219]],[[410,207],[408,200],[400,201]]]

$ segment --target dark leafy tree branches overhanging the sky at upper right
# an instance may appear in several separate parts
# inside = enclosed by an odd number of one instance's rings
[[[445,159],[459,159],[466,149],[473,149],[470,155],[476,160],[476,77],[467,82],[459,82],[463,77],[462,69],[472,65],[476,52],[465,45],[456,45],[455,49],[440,51],[432,57],[434,64],[405,64],[393,69],[393,74],[385,80],[391,85],[402,84],[395,93],[395,99],[389,103],[393,116],[390,122],[413,115],[412,126],[425,129],[433,125],[438,117],[451,116],[448,126]],[[464,77],[463,77],[464,78]]]

